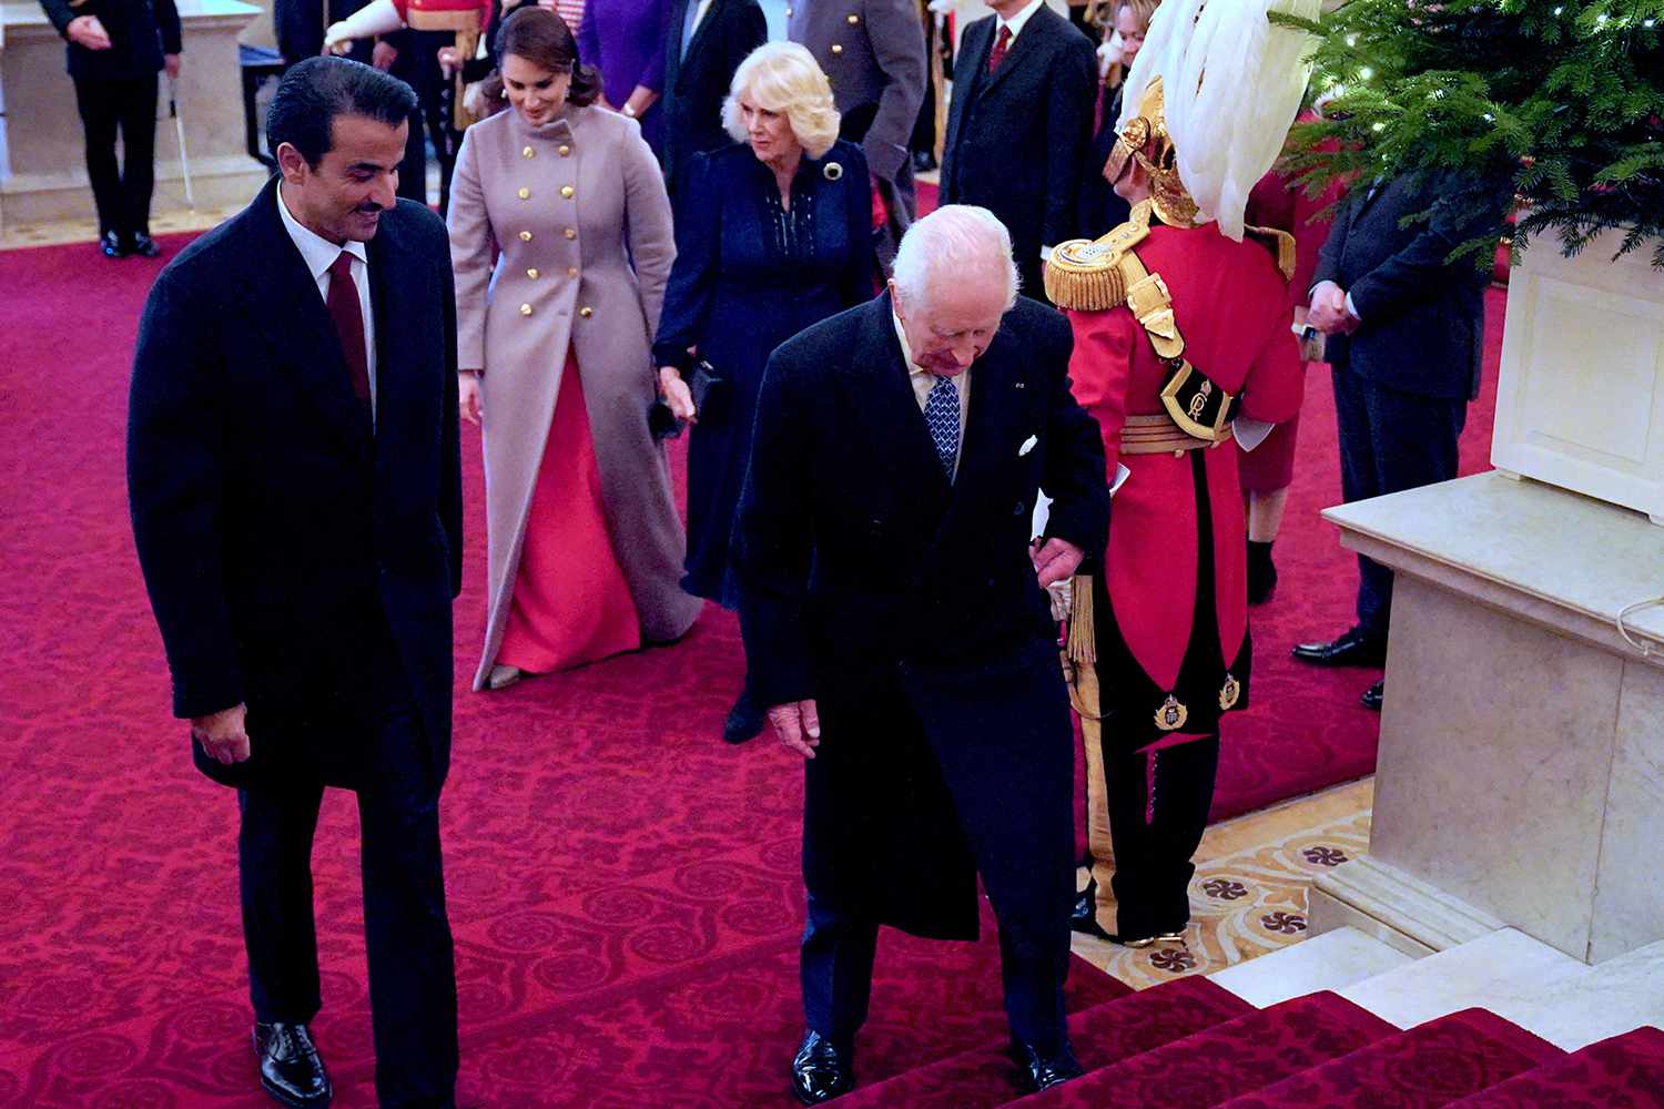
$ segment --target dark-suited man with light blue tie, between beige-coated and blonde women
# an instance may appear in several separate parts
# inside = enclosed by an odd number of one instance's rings
[[[664,145],[659,165],[676,198],[682,168],[694,155],[734,141],[722,128],[722,101],[734,70],[769,42],[757,0],[674,0],[664,37]]]

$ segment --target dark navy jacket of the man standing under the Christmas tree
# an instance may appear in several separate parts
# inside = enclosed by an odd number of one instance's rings
[[[1473,259],[1446,261],[1464,241],[1483,234],[1506,203],[1506,183],[1489,196],[1493,211],[1459,219],[1449,196],[1473,188],[1448,176],[1393,178],[1359,186],[1330,228],[1311,278],[1351,293],[1363,321],[1350,336],[1328,339],[1328,357],[1364,379],[1444,399],[1473,399],[1484,347],[1484,288],[1491,271]],[[1399,226],[1428,211],[1424,223]]]

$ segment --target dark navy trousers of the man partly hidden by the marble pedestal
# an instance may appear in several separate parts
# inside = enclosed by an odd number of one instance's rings
[[[1346,502],[1419,489],[1456,477],[1456,449],[1468,401],[1388,389],[1336,364],[1335,424]],[[1393,572],[1358,555],[1358,627],[1386,638]]]

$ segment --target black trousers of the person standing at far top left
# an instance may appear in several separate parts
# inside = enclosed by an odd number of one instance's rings
[[[87,176],[98,208],[98,234],[150,234],[156,183],[156,75],[131,80],[75,78],[75,106],[87,136]],[[121,161],[115,140],[121,135]]]

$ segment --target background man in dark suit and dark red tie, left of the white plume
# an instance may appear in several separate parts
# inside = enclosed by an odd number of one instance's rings
[[[953,60],[942,203],[982,205],[1012,229],[1023,293],[1043,298],[1052,246],[1082,231],[1080,165],[1092,143],[1092,42],[1045,0],[990,0]]]

